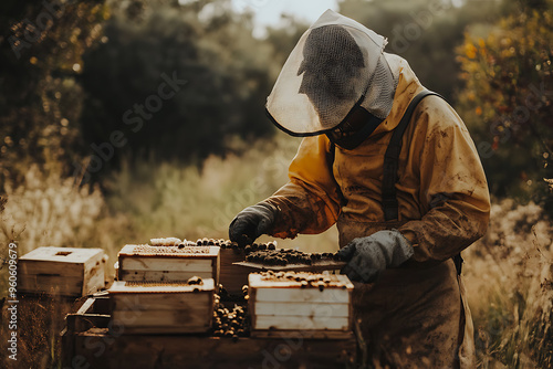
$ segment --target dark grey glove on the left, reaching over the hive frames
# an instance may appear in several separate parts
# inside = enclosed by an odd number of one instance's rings
[[[279,209],[268,202],[246,208],[230,223],[230,241],[238,242],[240,246],[253,243],[272,229],[278,212]]]

